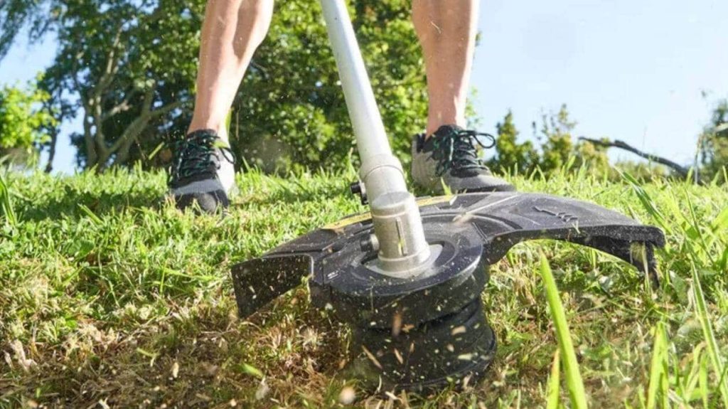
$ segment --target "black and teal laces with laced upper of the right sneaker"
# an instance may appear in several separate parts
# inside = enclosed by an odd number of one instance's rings
[[[485,137],[488,143],[483,143],[480,137]],[[473,130],[452,130],[435,140],[435,151],[432,154],[437,159],[438,166],[435,174],[444,175],[448,170],[484,169],[487,170],[483,159],[478,156],[478,146],[489,149],[496,145],[496,138],[484,132]]]

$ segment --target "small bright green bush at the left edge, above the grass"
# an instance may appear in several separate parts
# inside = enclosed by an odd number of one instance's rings
[[[50,95],[29,82],[25,88],[6,85],[0,89],[0,156],[3,151],[31,151],[49,139],[55,126],[45,105]]]

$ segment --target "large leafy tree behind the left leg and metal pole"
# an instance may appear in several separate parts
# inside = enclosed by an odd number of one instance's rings
[[[205,1],[9,1],[0,16],[12,17],[13,27],[42,21],[58,37],[45,87],[58,111],[70,105],[83,116],[83,132],[73,135],[79,164],[103,170],[146,159],[185,132]],[[352,3],[392,146],[406,161],[427,112],[410,2]],[[231,134],[238,156],[267,170],[346,166],[354,138],[317,1],[277,2],[234,105]],[[163,150],[147,163],[168,156]]]

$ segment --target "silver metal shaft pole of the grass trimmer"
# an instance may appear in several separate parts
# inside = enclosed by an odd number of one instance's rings
[[[360,179],[371,202],[378,270],[411,277],[430,259],[419,207],[389,147],[345,0],[321,0],[321,7],[362,161]]]

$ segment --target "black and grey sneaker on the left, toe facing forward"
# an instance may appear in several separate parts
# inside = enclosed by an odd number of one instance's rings
[[[234,155],[213,130],[191,132],[175,142],[167,186],[177,208],[197,204],[205,213],[225,210],[235,183]]]

